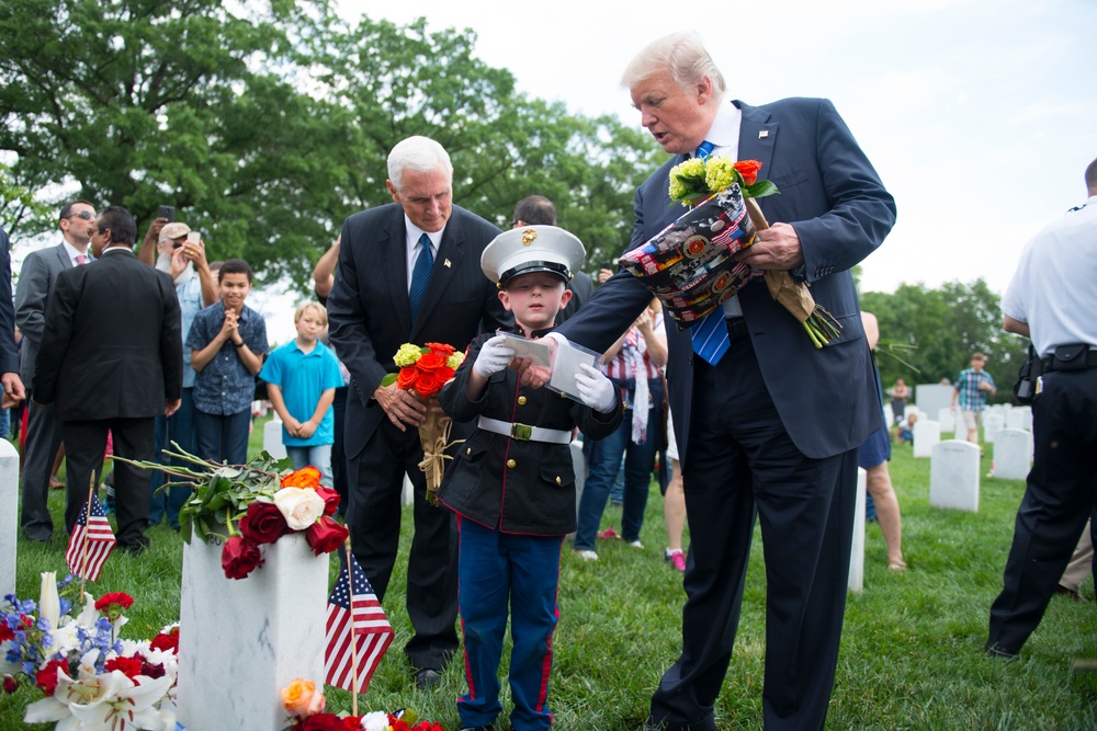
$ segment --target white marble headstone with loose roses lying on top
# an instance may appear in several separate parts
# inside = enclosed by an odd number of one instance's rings
[[[179,612],[179,722],[188,731],[279,731],[281,690],[324,683],[328,555],[304,533],[262,547],[265,563],[226,579],[220,546],[183,546]]]

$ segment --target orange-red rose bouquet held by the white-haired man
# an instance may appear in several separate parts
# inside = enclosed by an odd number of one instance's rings
[[[427,343],[425,347],[404,343],[393,361],[400,367],[399,373],[388,374],[382,386],[397,387],[415,393],[427,402],[442,387],[453,379],[453,374],[464,362],[465,354],[456,353],[452,345]],[[427,411],[427,421],[419,426],[419,443],[422,445],[422,461],[419,469],[427,476],[427,502],[438,505],[438,488],[445,472],[445,450],[452,447],[450,429],[452,422],[438,412]]]

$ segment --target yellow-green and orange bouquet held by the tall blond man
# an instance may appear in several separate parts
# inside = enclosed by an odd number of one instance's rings
[[[670,199],[683,206],[699,205],[705,198],[738,185],[746,198],[747,214],[757,230],[769,228],[761,208],[754,198],[778,193],[768,180],[758,180],[761,163],[757,160],[733,162],[723,157],[693,158],[670,169]],[[807,285],[795,282],[788,272],[766,270],[762,276],[770,296],[779,301],[803,325],[815,347],[823,347],[839,336],[841,325],[815,302]],[[743,284],[746,282],[744,281]]]

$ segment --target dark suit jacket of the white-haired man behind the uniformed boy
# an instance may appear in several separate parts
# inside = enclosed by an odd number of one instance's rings
[[[350,370],[351,393],[361,418],[347,420],[347,457],[357,457],[376,431],[384,409],[373,391],[404,343],[446,343],[463,351],[478,333],[509,327],[498,289],[480,271],[480,253],[499,229],[453,206],[434,258],[419,317],[408,302],[407,226],[392,203],[354,214],[343,222],[339,269],[328,297],[330,339]]]

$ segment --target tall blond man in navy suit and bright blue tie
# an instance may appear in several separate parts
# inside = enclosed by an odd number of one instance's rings
[[[692,34],[648,45],[622,82],[643,126],[672,156],[636,191],[632,244],[683,213],[668,195],[672,165],[708,155],[759,160],[781,194],[760,202],[774,222],[737,256],[806,281],[842,325],[840,338],[816,350],[754,281],[713,313],[716,352],[702,357],[689,330],[668,328],[667,380],[692,545],[682,653],[655,692],[647,728],[716,728],[714,704],[758,515],[767,574],[765,728],[819,729],[841,637],[857,448],[881,425],[849,270],[891,230],[894,202],[830,102],[732,101]],[[604,351],[651,297],[638,279],[618,273],[548,336]]]

